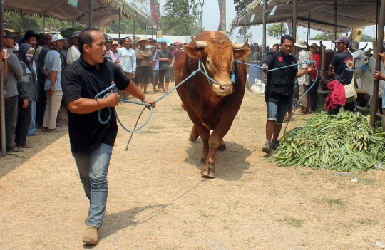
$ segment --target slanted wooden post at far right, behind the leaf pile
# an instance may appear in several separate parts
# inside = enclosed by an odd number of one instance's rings
[[[385,26],[385,0],[381,0],[380,12],[379,12],[379,28],[377,31],[377,48],[378,53],[383,52],[382,43],[384,41],[384,26]],[[376,58],[376,71],[381,71],[381,56]],[[375,128],[376,124],[376,113],[377,104],[379,100],[379,80],[374,80],[373,85],[373,99],[371,100],[371,113],[370,113],[370,126],[372,129]]]

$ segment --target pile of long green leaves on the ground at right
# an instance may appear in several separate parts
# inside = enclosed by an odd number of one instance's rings
[[[272,157],[279,166],[303,166],[317,170],[366,170],[385,157],[384,133],[373,133],[369,116],[341,111],[320,113],[281,138]]]

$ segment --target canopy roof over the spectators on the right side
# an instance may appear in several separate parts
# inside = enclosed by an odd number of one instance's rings
[[[352,28],[375,25],[377,0],[297,0],[297,24],[318,31],[333,33],[334,1],[337,1],[337,33],[351,31]],[[275,13],[270,16],[274,6]],[[255,0],[247,5],[246,13],[238,19],[238,26],[262,24],[263,1]],[[310,16],[309,16],[310,14]],[[254,18],[252,19],[252,15]],[[267,24],[292,22],[293,1],[267,0]],[[237,26],[237,18],[231,27]]]

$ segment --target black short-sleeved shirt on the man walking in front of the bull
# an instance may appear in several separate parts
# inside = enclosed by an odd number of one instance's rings
[[[106,59],[97,70],[96,66],[89,65],[81,57],[67,66],[61,76],[64,102],[68,103],[79,98],[94,99],[98,93],[113,83],[116,83],[119,90],[125,90],[130,84],[130,78],[123,75],[118,66]],[[99,122],[98,111],[81,115],[67,110],[71,151],[92,150],[101,143],[113,146],[118,133],[114,109],[111,108],[111,119],[107,124]],[[105,121],[108,115],[108,108],[103,108],[101,120]]]

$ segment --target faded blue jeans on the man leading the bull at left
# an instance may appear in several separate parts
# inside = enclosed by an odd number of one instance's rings
[[[88,226],[101,228],[106,214],[108,183],[107,173],[112,146],[102,143],[88,152],[72,152],[78,166],[84,192],[90,200]]]

